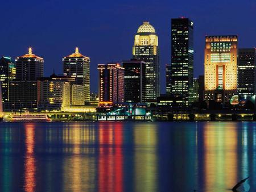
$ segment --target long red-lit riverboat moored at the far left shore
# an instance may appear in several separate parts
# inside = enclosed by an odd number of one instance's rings
[[[11,122],[51,122],[47,114],[11,115]]]

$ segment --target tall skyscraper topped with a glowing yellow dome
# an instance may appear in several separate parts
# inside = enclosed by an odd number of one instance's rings
[[[143,22],[134,37],[133,57],[146,62],[146,102],[156,101],[160,95],[159,47],[155,28]]]

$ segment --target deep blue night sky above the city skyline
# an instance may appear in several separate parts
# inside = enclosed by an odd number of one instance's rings
[[[155,27],[160,45],[161,92],[171,58],[171,18],[194,22],[194,76],[204,73],[205,35],[238,35],[240,48],[256,45],[256,1],[1,1],[0,55],[33,52],[44,57],[44,74],[63,73],[62,57],[80,52],[91,59],[91,91],[97,64],[131,58],[134,35],[144,20]]]

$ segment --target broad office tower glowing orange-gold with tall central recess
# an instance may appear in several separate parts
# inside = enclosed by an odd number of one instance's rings
[[[205,37],[205,100],[225,103],[236,93],[237,39],[236,35]]]

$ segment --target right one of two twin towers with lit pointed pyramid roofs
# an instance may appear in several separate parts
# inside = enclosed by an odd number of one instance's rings
[[[90,58],[79,53],[76,48],[75,53],[63,58],[63,73],[69,77],[75,77],[77,85],[84,86],[84,102],[90,102]]]

